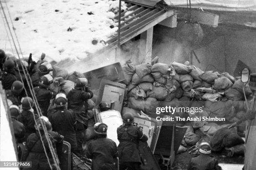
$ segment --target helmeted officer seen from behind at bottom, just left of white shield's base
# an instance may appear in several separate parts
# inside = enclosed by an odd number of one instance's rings
[[[115,170],[114,159],[117,157],[117,147],[113,140],[107,137],[108,126],[96,123],[94,132],[96,139],[87,145],[86,156],[92,159],[93,170]]]

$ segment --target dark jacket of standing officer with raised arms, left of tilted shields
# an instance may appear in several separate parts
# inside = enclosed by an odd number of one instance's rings
[[[68,109],[74,111],[77,121],[87,126],[87,100],[93,97],[92,90],[85,87],[84,90],[72,89],[67,95]]]

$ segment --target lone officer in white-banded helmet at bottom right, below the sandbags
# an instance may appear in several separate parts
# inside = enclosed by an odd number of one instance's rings
[[[212,157],[210,144],[201,143],[198,147],[199,155],[192,158],[187,170],[221,170],[218,160]]]

